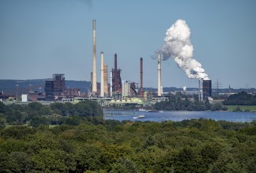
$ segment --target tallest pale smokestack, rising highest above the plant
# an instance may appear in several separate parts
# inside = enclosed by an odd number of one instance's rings
[[[97,92],[96,80],[96,20],[92,20],[92,36],[93,36],[93,60],[92,60],[92,92]]]

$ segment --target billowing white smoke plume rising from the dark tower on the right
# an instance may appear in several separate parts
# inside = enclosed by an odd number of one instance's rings
[[[193,45],[190,42],[190,28],[185,20],[177,20],[166,31],[164,46],[161,51],[163,59],[174,57],[179,68],[183,68],[189,78],[205,79],[209,77],[201,64],[193,58]]]

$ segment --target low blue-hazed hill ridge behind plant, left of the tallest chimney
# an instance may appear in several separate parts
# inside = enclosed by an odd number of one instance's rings
[[[0,92],[4,94],[27,94],[29,90],[44,92],[44,83],[49,79],[0,79]],[[90,90],[90,82],[66,80],[66,88],[79,88],[82,92],[88,93]]]

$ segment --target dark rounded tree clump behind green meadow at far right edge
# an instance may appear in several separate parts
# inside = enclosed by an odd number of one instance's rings
[[[238,94],[232,94],[224,102],[224,105],[256,105],[256,95],[247,94],[247,92],[241,92]]]

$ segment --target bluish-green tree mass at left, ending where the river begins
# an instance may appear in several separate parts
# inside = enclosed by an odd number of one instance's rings
[[[103,117],[103,110],[96,101],[72,103],[52,103],[42,105],[32,102],[28,105],[4,105],[0,102],[0,127],[28,124],[32,127],[40,125],[70,124],[78,125],[81,120]]]

